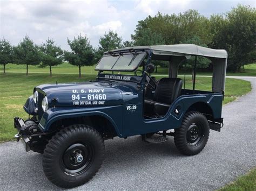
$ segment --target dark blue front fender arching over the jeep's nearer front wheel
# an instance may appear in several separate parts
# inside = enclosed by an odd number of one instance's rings
[[[108,119],[119,137],[122,137],[123,122],[120,116],[123,115],[123,105],[97,107],[97,108],[52,108],[44,112],[43,117],[39,123],[39,128],[43,132],[48,132],[53,122],[60,119],[85,117],[99,115]],[[111,116],[111,117],[110,117]]]

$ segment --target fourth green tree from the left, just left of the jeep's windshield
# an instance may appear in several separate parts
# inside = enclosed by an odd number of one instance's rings
[[[94,52],[87,37],[83,37],[81,34],[73,40],[68,39],[68,44],[71,48],[71,52],[65,51],[64,59],[71,65],[78,66],[79,77],[81,77],[82,66],[92,66],[94,61]]]

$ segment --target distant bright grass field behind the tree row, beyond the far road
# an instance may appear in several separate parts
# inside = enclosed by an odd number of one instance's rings
[[[95,66],[84,66],[82,67],[82,74],[97,74],[98,72],[94,70]],[[6,65],[6,73],[13,72],[26,72],[25,65],[15,65],[9,63]],[[3,65],[0,65],[0,73],[3,73]],[[46,68],[38,68],[37,66],[29,66],[29,73],[48,73],[49,67]],[[78,74],[78,67],[70,65],[68,62],[64,62],[62,65],[58,65],[52,67],[53,74],[60,73],[68,73],[68,74]],[[157,75],[167,75],[168,68],[160,68],[158,67]],[[180,71],[179,74],[184,74],[184,72]],[[187,75],[191,75],[191,72],[186,72]],[[212,73],[207,72],[197,72],[197,75],[212,75]],[[252,63],[250,65],[245,65],[244,70],[240,73],[231,73],[228,72],[227,75],[230,76],[256,76],[256,63]]]

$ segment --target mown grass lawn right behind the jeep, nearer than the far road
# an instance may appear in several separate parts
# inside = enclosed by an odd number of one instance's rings
[[[26,99],[32,95],[33,87],[44,83],[81,82],[94,80],[96,75],[83,75],[78,79],[76,74],[48,74],[24,73],[0,74],[0,142],[14,140],[16,130],[13,126],[15,116],[28,118],[23,110]],[[157,76],[160,78],[160,76]],[[211,90],[211,77],[197,77],[196,89]],[[186,79],[186,88],[192,88],[191,79]],[[251,83],[238,79],[226,79],[224,103],[235,100],[237,96],[244,95],[251,90]]]

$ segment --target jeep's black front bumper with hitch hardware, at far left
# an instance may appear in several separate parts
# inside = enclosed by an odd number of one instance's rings
[[[26,152],[30,151],[31,150],[29,145],[30,139],[28,137],[29,131],[26,129],[24,120],[22,118],[15,117],[14,128],[18,130],[18,133],[14,136],[15,138],[17,138],[17,142],[21,139]]]

